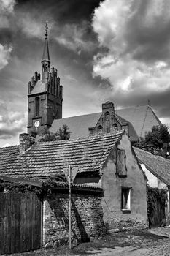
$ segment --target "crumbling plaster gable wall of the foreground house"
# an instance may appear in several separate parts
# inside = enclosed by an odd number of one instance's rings
[[[102,208],[104,222],[109,228],[147,227],[146,183],[127,135],[123,135],[117,148],[125,150],[127,176],[116,176],[116,150],[112,149],[102,169],[104,190]],[[122,187],[131,188],[131,211],[122,211]]]

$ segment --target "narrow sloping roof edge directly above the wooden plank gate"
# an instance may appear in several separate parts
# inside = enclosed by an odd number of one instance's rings
[[[23,183],[23,184],[31,185],[35,187],[42,187],[42,184],[43,184],[42,181],[34,181],[34,180],[31,181],[27,178],[12,178],[9,176],[1,176],[1,175],[0,175],[0,180],[14,182],[14,183]]]

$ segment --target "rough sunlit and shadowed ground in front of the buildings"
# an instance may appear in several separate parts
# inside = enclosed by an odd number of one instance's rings
[[[134,230],[120,233],[112,233],[91,240],[88,243],[79,244],[69,252],[68,246],[55,249],[39,249],[34,252],[23,252],[10,256],[63,256],[63,255],[161,255],[170,256],[170,228],[159,227],[152,230]]]

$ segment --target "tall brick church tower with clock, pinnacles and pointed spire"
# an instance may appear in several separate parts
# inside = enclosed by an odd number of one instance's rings
[[[54,119],[62,118],[63,86],[57,69],[50,67],[50,53],[45,24],[45,46],[42,55],[42,74],[35,72],[28,83],[28,134],[48,129]]]

